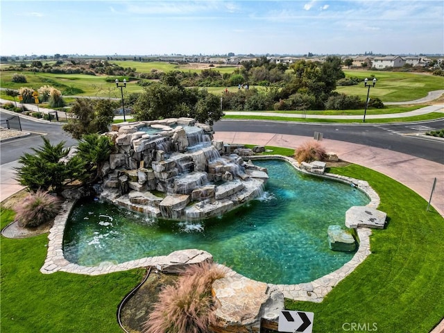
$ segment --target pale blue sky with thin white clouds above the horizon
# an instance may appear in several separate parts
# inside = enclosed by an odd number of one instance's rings
[[[444,1],[1,0],[0,54],[444,53]]]

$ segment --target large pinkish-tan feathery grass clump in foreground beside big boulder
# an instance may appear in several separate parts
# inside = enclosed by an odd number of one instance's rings
[[[212,263],[190,265],[176,284],[164,287],[144,324],[144,333],[209,333],[215,323],[212,284],[225,270]]]

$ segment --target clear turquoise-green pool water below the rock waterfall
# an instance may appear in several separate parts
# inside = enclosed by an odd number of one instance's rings
[[[348,262],[353,253],[328,248],[329,225],[368,197],[349,185],[299,173],[280,160],[255,161],[270,180],[260,200],[203,222],[155,221],[92,200],[67,223],[65,257],[81,265],[126,262],[198,248],[242,275],[268,283],[309,282]]]

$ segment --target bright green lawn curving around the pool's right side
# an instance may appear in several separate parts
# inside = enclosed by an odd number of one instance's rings
[[[367,180],[388,225],[373,230],[372,254],[323,302],[287,300],[286,308],[314,312],[313,332],[344,332],[344,323],[375,323],[377,332],[429,332],[444,314],[444,219],[381,173],[357,165],[331,171]]]

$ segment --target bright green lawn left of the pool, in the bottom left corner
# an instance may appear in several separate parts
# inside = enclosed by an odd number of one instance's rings
[[[1,228],[13,212],[1,209]],[[101,276],[44,275],[48,236],[1,237],[1,332],[122,332],[119,302],[142,280],[144,270]]]

